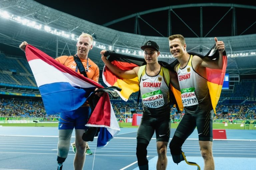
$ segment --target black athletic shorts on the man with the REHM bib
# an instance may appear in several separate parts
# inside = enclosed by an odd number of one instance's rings
[[[203,113],[185,113],[174,135],[184,140],[197,128],[198,139],[201,141],[212,141],[213,110]]]

